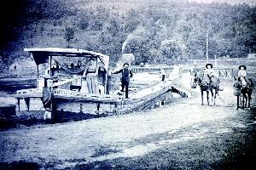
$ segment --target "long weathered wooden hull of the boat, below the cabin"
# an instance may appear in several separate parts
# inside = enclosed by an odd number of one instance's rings
[[[38,93],[37,90],[31,91]],[[19,101],[18,104],[26,105],[25,108],[19,106],[19,111],[21,109],[26,111],[50,111],[51,119],[54,122],[69,122],[101,116],[129,114],[133,111],[152,108],[154,105],[165,105],[175,101],[173,94],[187,97],[187,94],[182,90],[173,87],[172,83],[155,84],[153,87],[131,94],[131,99],[125,99],[117,94],[81,94],[77,91],[54,89],[51,91],[47,107],[43,105],[43,94],[21,93],[16,96],[18,100],[23,99],[23,103]],[[29,101],[27,101],[28,99]],[[43,105],[44,109],[34,105],[37,102]]]

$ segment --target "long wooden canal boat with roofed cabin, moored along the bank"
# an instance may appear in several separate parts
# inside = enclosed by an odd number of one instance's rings
[[[17,91],[17,109],[44,111],[55,121],[126,114],[172,99],[173,92],[187,95],[173,87],[172,82],[159,81],[133,89],[130,98],[125,99],[116,93],[119,77],[109,74],[108,55],[77,48],[25,48],[24,51],[38,65],[37,88]],[[43,76],[39,74],[40,65],[47,68]]]

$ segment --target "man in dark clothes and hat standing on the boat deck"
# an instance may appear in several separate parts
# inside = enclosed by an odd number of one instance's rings
[[[121,92],[124,92],[125,89],[125,99],[128,99],[128,87],[129,87],[129,82],[130,82],[130,78],[133,76],[131,70],[129,69],[129,64],[128,63],[124,63],[123,68],[119,71],[114,71],[112,72],[113,74],[118,74],[118,73],[122,73],[122,77],[121,77]]]

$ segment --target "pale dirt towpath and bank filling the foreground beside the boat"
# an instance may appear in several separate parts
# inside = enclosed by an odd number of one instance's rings
[[[215,106],[200,105],[196,88],[191,98],[151,111],[0,132],[1,165],[238,169],[256,157],[255,94],[253,109],[236,111],[231,83],[223,85]]]

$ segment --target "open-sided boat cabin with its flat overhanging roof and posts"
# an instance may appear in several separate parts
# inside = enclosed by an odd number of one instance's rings
[[[37,78],[37,88],[51,87],[58,93],[106,94],[109,57],[76,48],[25,48],[35,63],[47,65]]]

